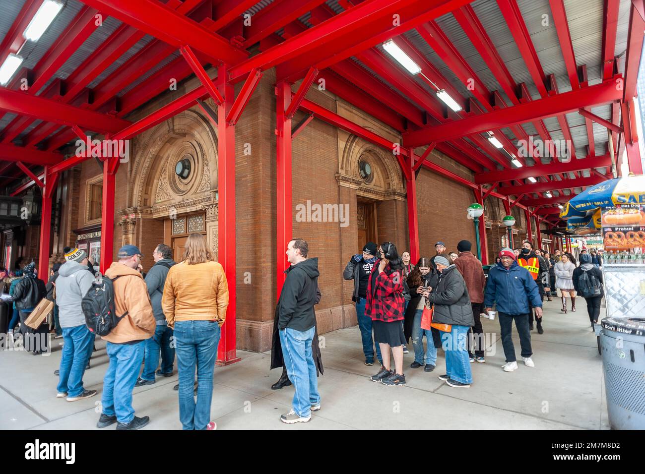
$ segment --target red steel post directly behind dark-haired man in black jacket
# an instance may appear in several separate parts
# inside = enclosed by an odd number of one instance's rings
[[[286,245],[292,236],[292,187],[291,187],[291,119],[286,116],[286,110],[291,104],[291,86],[285,81],[281,81],[275,86],[277,99],[275,106],[277,108],[275,115],[275,126],[277,139],[275,143],[276,160],[276,190],[275,199],[276,210],[275,217],[277,221],[277,238],[276,238],[276,275],[277,275],[277,298],[284,284],[286,275],[284,270],[289,266],[286,260]],[[277,301],[277,299],[276,299]]]

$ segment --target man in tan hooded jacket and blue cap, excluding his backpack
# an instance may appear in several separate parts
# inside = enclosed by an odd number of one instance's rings
[[[106,336],[110,366],[103,379],[103,410],[97,423],[105,428],[115,422],[117,430],[139,430],[150,417],[135,417],[132,408],[132,389],[139,377],[143,360],[144,341],[155,332],[154,313],[146,284],[137,272],[141,251],[134,245],[119,249],[118,262],[112,262],[105,272],[114,282],[114,306],[119,324]]]

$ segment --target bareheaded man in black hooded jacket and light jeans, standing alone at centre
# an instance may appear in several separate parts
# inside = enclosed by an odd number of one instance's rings
[[[309,247],[303,239],[292,239],[286,250],[291,266],[278,300],[278,328],[283,350],[284,366],[293,383],[293,408],[281,415],[280,420],[292,424],[308,422],[312,411],[321,408],[318,393],[316,364],[312,344],[317,302],[318,259],[307,259]]]

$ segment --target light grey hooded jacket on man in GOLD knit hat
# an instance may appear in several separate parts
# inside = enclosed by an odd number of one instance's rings
[[[56,279],[56,304],[61,328],[75,328],[85,324],[81,300],[92,288],[94,277],[86,265],[65,262]]]

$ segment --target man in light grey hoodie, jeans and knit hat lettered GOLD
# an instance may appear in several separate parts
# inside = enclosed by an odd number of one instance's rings
[[[96,390],[83,388],[83,374],[94,347],[94,334],[85,325],[81,300],[92,287],[92,281],[94,277],[87,270],[86,253],[78,248],[70,249],[55,283],[64,341],[56,397],[67,397],[68,402],[96,395]]]

